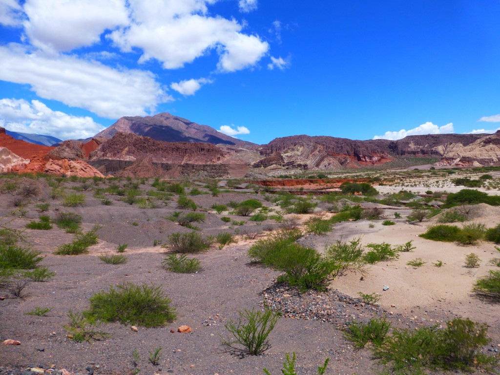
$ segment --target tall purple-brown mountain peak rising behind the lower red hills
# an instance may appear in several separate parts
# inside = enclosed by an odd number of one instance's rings
[[[121,117],[94,137],[112,138],[118,132],[134,133],[167,142],[205,142],[239,146],[254,146],[221,133],[208,125],[200,125],[170,113],[154,116]]]

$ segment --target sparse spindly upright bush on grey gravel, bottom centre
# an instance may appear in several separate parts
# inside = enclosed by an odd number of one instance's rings
[[[222,339],[222,344],[231,351],[247,355],[259,355],[270,345],[267,336],[274,328],[279,316],[266,308],[264,311],[244,309],[238,311],[237,321],[230,319],[225,328],[234,337]]]

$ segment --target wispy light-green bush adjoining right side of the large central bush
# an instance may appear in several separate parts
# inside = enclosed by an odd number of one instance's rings
[[[337,239],[336,243],[326,247],[326,256],[335,264],[334,277],[342,275],[348,269],[361,269],[365,264],[360,241],[360,238],[354,238],[349,242]]]

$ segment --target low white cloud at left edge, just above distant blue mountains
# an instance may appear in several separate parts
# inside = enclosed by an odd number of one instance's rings
[[[52,135],[59,139],[87,138],[104,129],[88,116],[54,111],[38,100],[0,99],[0,125],[11,131]]]

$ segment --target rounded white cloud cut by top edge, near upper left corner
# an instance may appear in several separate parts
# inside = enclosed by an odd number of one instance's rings
[[[24,12],[31,43],[52,53],[94,44],[105,29],[128,23],[124,0],[27,0]]]

